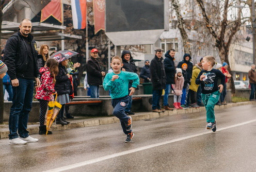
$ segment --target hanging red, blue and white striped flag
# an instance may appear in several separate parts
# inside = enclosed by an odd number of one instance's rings
[[[86,27],[86,0],[71,0],[72,19],[74,29]]]

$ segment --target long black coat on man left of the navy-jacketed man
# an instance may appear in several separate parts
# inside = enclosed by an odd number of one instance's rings
[[[163,57],[159,59],[155,56],[150,63],[150,75],[153,90],[162,90],[166,88],[166,75]]]

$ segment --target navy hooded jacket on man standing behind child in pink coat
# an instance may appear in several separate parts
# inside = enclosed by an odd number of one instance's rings
[[[165,53],[165,73],[166,73],[166,83],[174,84],[174,77],[175,77],[175,65],[174,65],[174,58],[170,56],[170,50]],[[180,67],[181,68],[181,67]]]

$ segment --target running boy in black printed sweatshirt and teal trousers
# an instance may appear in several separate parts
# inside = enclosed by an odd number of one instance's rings
[[[219,101],[220,93],[223,90],[225,83],[225,75],[219,70],[213,68],[215,58],[213,56],[203,57],[203,70],[199,73],[196,84],[201,83],[202,100],[206,109],[206,129],[216,131],[216,121],[214,115],[214,106]],[[221,79],[221,84],[218,85],[218,78]],[[219,89],[218,89],[219,88]]]

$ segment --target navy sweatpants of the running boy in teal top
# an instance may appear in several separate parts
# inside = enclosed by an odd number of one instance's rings
[[[128,95],[121,98],[114,98],[111,100],[111,104],[114,108],[113,115],[119,118],[124,134],[129,134],[132,132],[132,130],[126,131],[125,127],[125,124],[128,123],[129,117],[126,115],[124,110],[128,106],[129,100],[130,96]]]

